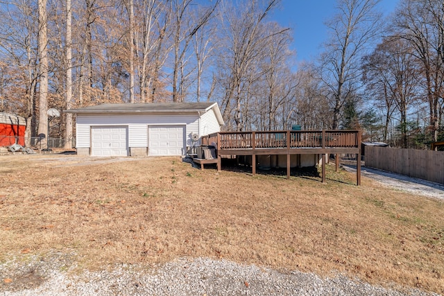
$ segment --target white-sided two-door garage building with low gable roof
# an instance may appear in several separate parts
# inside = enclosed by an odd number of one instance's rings
[[[217,103],[103,104],[65,110],[76,114],[78,155],[185,155],[191,136],[220,132]]]

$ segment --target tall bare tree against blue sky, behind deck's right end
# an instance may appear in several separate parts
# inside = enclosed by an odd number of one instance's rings
[[[360,87],[359,60],[381,26],[381,15],[375,10],[378,2],[338,0],[338,14],[327,22],[331,36],[321,57],[321,77],[330,93],[333,129],[339,128],[343,104]]]

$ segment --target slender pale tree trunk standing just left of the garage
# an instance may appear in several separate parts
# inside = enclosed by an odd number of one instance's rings
[[[67,0],[67,32],[66,32],[66,65],[67,65],[67,92],[66,92],[66,108],[72,107],[72,44],[71,44],[71,0]],[[66,130],[65,130],[65,148],[72,148],[73,140],[73,121],[72,114],[66,114]]]

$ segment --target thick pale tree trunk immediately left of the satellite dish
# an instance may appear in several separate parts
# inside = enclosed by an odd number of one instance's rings
[[[48,144],[48,17],[46,14],[46,0],[38,0],[39,10],[39,38],[38,51],[40,57],[40,89],[39,89],[39,137],[42,137],[42,147]]]

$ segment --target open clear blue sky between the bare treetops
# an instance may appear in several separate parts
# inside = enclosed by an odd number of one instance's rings
[[[388,15],[399,1],[381,0],[379,8]],[[298,61],[312,60],[321,52],[321,44],[327,38],[324,22],[335,13],[335,0],[282,0],[272,19],[282,26],[293,28],[293,50]]]

